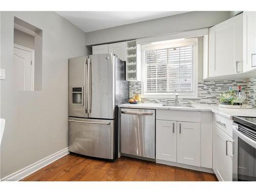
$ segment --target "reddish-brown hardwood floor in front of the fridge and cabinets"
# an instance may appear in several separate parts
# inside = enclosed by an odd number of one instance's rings
[[[67,155],[24,181],[217,181],[214,174],[121,157],[106,162]]]

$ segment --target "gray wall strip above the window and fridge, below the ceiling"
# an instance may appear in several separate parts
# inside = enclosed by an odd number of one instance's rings
[[[86,45],[201,29],[231,17],[229,11],[196,11],[86,33]]]

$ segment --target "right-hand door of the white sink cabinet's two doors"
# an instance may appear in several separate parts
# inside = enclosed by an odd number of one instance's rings
[[[200,166],[200,123],[177,122],[177,162]]]

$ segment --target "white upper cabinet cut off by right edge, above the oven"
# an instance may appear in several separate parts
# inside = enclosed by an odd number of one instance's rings
[[[256,69],[256,12],[243,12],[244,72]]]

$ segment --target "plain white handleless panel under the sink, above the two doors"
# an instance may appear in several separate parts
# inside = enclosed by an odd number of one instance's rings
[[[199,111],[157,110],[156,119],[170,121],[200,122]]]

